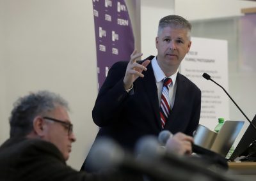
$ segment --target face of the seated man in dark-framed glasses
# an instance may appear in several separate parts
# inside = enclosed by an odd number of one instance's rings
[[[70,123],[67,110],[61,106],[55,108],[52,112],[45,115],[45,117]],[[43,137],[43,140],[50,141],[56,145],[56,147],[59,148],[60,152],[63,154],[63,157],[67,161],[71,152],[72,142],[76,141],[76,137],[74,136],[73,132],[68,134],[67,124],[47,120],[45,122],[44,135],[45,136]]]

